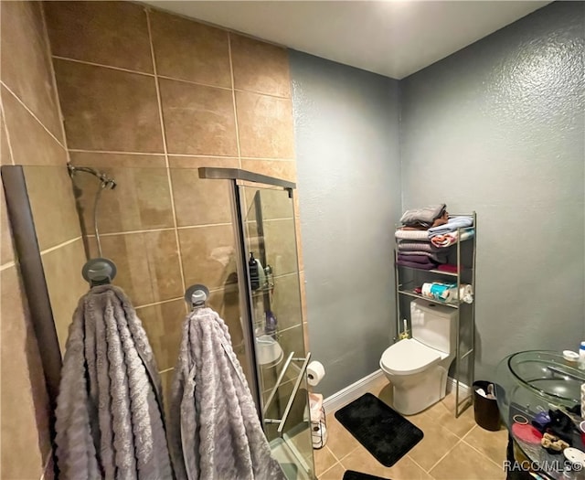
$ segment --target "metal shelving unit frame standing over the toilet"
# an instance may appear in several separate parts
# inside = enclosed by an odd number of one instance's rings
[[[395,238],[395,249],[394,249],[394,275],[395,275],[395,284],[396,284],[396,324],[397,324],[397,337],[399,337],[399,332],[402,329],[401,325],[401,318],[404,318],[404,315],[400,312],[400,297],[409,296],[412,298],[420,298],[423,300],[431,301],[429,298],[422,296],[419,293],[415,293],[412,290],[405,288],[406,284],[414,283],[414,280],[404,283],[403,279],[401,278],[399,269],[406,269],[411,272],[420,272],[420,276],[424,275],[427,277],[427,281],[432,281],[431,279],[434,277],[435,279],[440,279],[443,281],[447,281],[448,279],[452,281],[452,283],[457,283],[457,300],[453,304],[443,304],[441,302],[435,302],[436,304],[446,305],[453,308],[456,311],[456,351],[455,351],[455,371],[454,371],[454,389],[455,389],[455,417],[459,417],[463,411],[465,411],[468,407],[470,407],[473,403],[473,376],[474,376],[474,359],[475,359],[475,255],[476,255],[476,241],[477,241],[477,214],[473,211],[470,214],[450,214],[449,218],[453,217],[471,217],[473,218],[473,226],[468,227],[465,229],[457,229],[457,241],[452,245],[450,248],[454,250],[456,253],[456,266],[457,272],[442,272],[440,270],[422,270],[416,269],[412,267],[406,266],[399,266],[398,264],[398,239]],[[397,227],[399,228],[399,227]],[[461,241],[461,233],[466,230],[474,230],[473,237],[469,240]],[[454,247],[454,249],[453,249]],[[471,249],[471,251],[467,251],[465,255],[467,258],[467,264],[464,264],[462,258],[462,248],[466,250]],[[416,276],[416,275],[415,275]],[[463,277],[463,278],[462,278]],[[462,283],[469,283],[472,285],[473,288],[473,302],[471,304],[463,303],[462,298],[460,297],[461,294],[461,285]],[[464,312],[463,312],[464,311]],[[463,315],[462,315],[463,312]],[[462,339],[463,334],[465,333],[468,336],[467,344],[464,345],[462,348]],[[410,332],[412,329],[410,328]],[[467,360],[467,369],[463,372],[462,370],[462,363],[464,360]],[[464,377],[464,379],[463,379]],[[460,390],[466,390],[467,394],[463,396],[463,399],[460,399]]]

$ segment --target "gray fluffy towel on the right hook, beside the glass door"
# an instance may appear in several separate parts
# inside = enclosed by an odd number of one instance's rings
[[[171,394],[179,480],[283,480],[271,458],[228,326],[210,308],[186,316]]]

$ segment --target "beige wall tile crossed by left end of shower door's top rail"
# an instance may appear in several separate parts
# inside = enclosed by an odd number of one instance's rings
[[[231,222],[228,180],[199,178],[199,166],[238,168],[237,158],[169,158],[176,224],[179,227]]]

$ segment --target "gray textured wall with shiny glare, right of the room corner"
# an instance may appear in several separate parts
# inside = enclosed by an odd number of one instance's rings
[[[403,208],[478,213],[476,378],[585,339],[584,8],[548,5],[400,82]]]

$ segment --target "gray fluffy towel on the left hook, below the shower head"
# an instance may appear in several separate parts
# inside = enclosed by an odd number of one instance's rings
[[[120,288],[93,287],[69,326],[57,400],[59,480],[173,478],[160,379]]]

